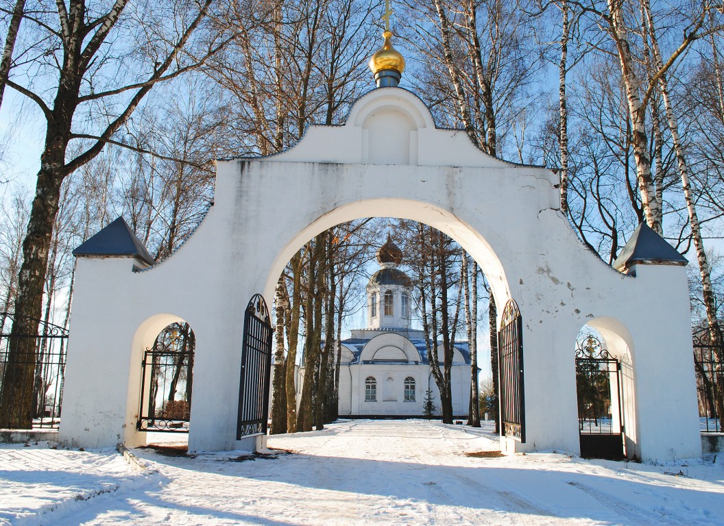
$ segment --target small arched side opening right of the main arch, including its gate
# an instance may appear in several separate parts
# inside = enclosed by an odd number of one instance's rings
[[[575,362],[581,457],[638,457],[628,331],[613,318],[595,318],[578,332]]]

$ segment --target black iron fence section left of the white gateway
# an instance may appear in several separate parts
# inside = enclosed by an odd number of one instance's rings
[[[0,313],[0,427],[59,426],[67,341],[64,327]]]

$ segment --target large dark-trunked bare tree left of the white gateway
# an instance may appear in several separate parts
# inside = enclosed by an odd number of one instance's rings
[[[23,242],[12,334],[34,334],[41,316],[43,285],[52,228],[64,179],[98,156],[130,118],[154,85],[203,64],[224,45],[209,25],[211,0],[198,7],[143,4],[126,9],[130,0],[85,4],[71,0],[26,10],[20,54],[33,56],[12,67],[5,82],[32,101],[45,122],[35,198]],[[32,14],[28,14],[32,12]],[[173,20],[173,24],[168,21]],[[21,27],[21,28],[22,28]],[[104,119],[83,119],[86,111],[103,106]],[[77,155],[69,145],[80,141]],[[10,404],[32,381],[32,368],[20,355],[33,355],[32,339],[13,345],[0,399],[0,426],[30,427],[30,415]]]

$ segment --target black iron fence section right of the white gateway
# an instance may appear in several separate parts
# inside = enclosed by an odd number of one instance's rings
[[[699,430],[724,433],[724,344],[712,342],[708,329],[694,333],[693,339]]]

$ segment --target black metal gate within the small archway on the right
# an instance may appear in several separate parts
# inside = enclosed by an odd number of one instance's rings
[[[581,457],[623,459],[620,362],[588,336],[576,347],[576,393]]]

